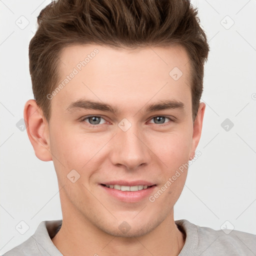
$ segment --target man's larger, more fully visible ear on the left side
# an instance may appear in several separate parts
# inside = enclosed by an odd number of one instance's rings
[[[52,160],[48,122],[34,99],[29,99],[25,103],[24,121],[26,124],[26,132],[34,148],[36,157],[42,161]]]

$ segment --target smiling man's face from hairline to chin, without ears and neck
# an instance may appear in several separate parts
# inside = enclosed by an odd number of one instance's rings
[[[63,220],[117,236],[149,232],[173,217],[186,170],[167,188],[166,182],[197,145],[185,50],[76,45],[64,48],[60,60],[59,83],[69,78],[51,99],[48,131]],[[148,107],[167,101],[168,108]]]

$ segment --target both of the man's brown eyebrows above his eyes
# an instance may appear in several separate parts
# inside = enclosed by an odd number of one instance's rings
[[[146,106],[143,106],[142,108],[145,108],[145,112],[153,112],[157,110],[165,110],[165,109],[184,109],[184,104],[181,101],[177,100],[160,100],[156,103],[151,103]],[[142,109],[141,108],[141,109]],[[85,100],[85,99],[79,99],[75,102],[72,102],[68,105],[66,108],[67,111],[73,112],[76,109],[94,109],[94,110],[102,110],[107,111],[111,113],[117,113],[119,111],[118,106],[112,106],[107,103],[99,102],[99,101],[92,101],[92,100]],[[140,109],[140,110],[141,110]]]

